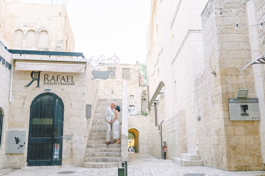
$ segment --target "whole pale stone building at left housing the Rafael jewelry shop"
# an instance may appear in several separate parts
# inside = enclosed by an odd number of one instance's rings
[[[65,6],[8,0],[0,2],[0,11],[0,114],[3,115],[0,168],[23,168],[29,161],[31,165],[83,166],[90,124],[86,105],[96,104],[98,92],[98,83],[91,79],[92,69],[86,66],[87,60],[23,53],[19,56],[9,52],[9,49],[74,52],[74,37]],[[27,64],[38,67],[39,71],[29,70]],[[61,67],[63,71],[51,67]],[[59,114],[53,116],[53,112]],[[47,118],[48,115],[53,118]],[[60,118],[54,119],[57,117]],[[47,133],[42,133],[42,128],[47,128]],[[10,133],[25,134],[22,138],[15,136],[19,151],[9,150],[10,140],[14,143]],[[59,151],[51,144],[59,144]],[[51,163],[48,158],[48,163],[41,162],[47,160],[45,154],[50,152],[55,152],[54,158],[58,155],[53,159],[57,161]],[[38,159],[39,163],[34,163]]]

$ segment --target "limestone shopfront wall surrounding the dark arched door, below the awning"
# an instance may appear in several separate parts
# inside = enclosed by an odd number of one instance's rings
[[[57,58],[49,59],[57,60]],[[40,87],[36,87],[37,82],[33,82],[29,87],[24,87],[32,80],[30,73],[31,71],[14,69],[8,125],[9,130],[26,131],[27,136],[25,152],[23,154],[6,154],[4,167],[16,167],[17,159],[19,159],[20,168],[26,166],[30,105],[37,95],[44,92],[44,89],[51,89],[50,92],[57,94],[64,103],[62,165],[82,166],[87,143],[84,134],[88,123],[88,119],[85,117],[85,105],[94,104],[97,93],[96,83],[87,77],[86,74],[89,71],[86,68],[83,73],[43,71],[40,74]],[[44,74],[71,75],[75,85],[43,85]],[[89,92],[87,87],[89,87]]]

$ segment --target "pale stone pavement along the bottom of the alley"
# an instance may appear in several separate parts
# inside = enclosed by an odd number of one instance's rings
[[[58,174],[58,172],[73,171],[73,174]],[[265,176],[265,171],[227,172],[204,166],[183,167],[171,160],[154,158],[148,153],[129,153],[128,176],[183,176],[190,173],[204,173],[205,176]],[[85,168],[85,167],[27,167],[25,169],[2,169],[4,176],[117,176],[117,168]]]

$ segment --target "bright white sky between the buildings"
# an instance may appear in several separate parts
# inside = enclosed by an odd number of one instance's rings
[[[51,4],[52,0],[22,2]],[[83,52],[87,58],[116,54],[120,63],[145,62],[150,6],[150,0],[67,0],[75,52]]]

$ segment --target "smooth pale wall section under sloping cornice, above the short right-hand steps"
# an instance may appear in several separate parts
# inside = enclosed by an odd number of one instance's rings
[[[202,40],[201,30],[189,30],[173,60],[174,107],[175,111],[185,111],[187,134],[196,130],[193,81],[204,68]],[[195,149],[196,133],[186,141],[187,149]]]

